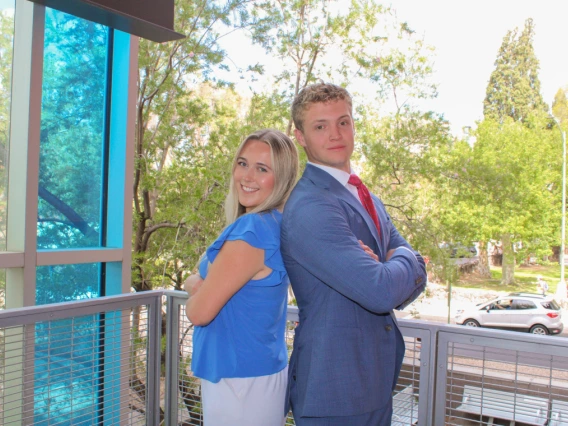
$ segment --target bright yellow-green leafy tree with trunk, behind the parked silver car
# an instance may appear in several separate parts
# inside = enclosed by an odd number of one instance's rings
[[[515,258],[548,254],[557,240],[561,156],[548,124],[543,115],[484,120],[473,147],[456,147],[449,162],[459,172],[448,177],[456,195],[446,223],[483,244],[501,241],[504,285],[514,282]]]

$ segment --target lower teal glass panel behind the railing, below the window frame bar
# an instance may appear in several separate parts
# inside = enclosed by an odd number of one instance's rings
[[[99,296],[102,268],[100,263],[38,267],[36,304]],[[99,315],[36,324],[34,424],[100,424],[103,336]]]

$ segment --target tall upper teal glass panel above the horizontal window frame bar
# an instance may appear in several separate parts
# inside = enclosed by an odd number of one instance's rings
[[[37,246],[100,247],[109,29],[46,9]]]

